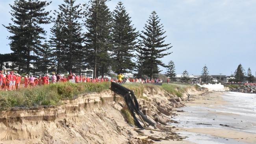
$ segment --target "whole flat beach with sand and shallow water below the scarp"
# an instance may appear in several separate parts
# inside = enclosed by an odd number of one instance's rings
[[[206,92],[185,102],[177,109],[171,123],[186,137],[176,144],[255,144],[256,94]],[[162,141],[160,144],[167,144]]]

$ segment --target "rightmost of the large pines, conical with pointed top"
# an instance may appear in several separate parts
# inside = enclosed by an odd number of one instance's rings
[[[160,19],[155,11],[151,13],[144,30],[141,31],[143,35],[140,36],[145,45],[145,48],[142,48],[142,50],[143,55],[146,55],[145,63],[148,66],[147,75],[152,79],[154,74],[160,72],[158,65],[166,67],[160,58],[171,54],[169,52],[163,52],[169,50],[172,46],[169,46],[170,44],[163,44],[166,37],[163,35],[166,31],[163,31],[163,24],[160,24]]]

